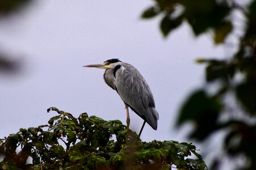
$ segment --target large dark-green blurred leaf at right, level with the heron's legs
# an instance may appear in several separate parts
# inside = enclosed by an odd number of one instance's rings
[[[209,97],[203,90],[198,90],[183,104],[177,125],[189,120],[195,122],[196,129],[191,137],[202,140],[217,129],[216,121],[220,111],[221,105],[216,99]]]

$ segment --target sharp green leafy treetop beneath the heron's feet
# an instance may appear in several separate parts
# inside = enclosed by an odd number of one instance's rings
[[[119,120],[51,110],[48,125],[0,139],[0,169],[207,169],[192,143],[142,142]]]

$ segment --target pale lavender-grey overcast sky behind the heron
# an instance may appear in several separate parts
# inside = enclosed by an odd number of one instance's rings
[[[204,83],[198,57],[221,57],[226,50],[210,35],[196,39],[187,24],[164,39],[160,18],[142,20],[151,1],[35,1],[25,11],[1,20],[1,50],[21,57],[15,76],[1,74],[0,137],[19,128],[47,124],[57,107],[78,117],[87,112],[126,123],[123,101],[109,88],[104,70],[82,67],[119,58],[137,67],[147,80],[159,112],[158,130],[146,125],[143,141],[187,140],[174,129],[184,99]],[[225,52],[224,52],[225,51]],[[130,113],[130,128],[143,120]]]

